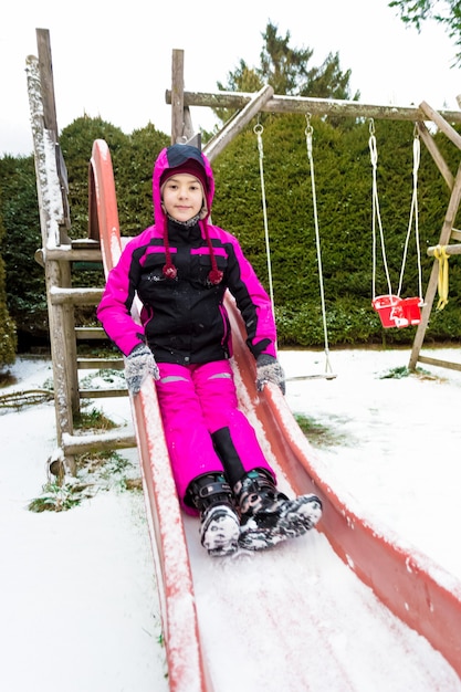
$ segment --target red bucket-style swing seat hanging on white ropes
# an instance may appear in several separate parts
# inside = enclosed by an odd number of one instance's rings
[[[378,165],[378,149],[375,135],[375,123],[370,118],[369,123],[369,150],[373,168],[373,301],[371,306],[378,313],[381,324],[385,328],[389,327],[408,327],[418,325],[421,321],[421,306],[423,305],[422,298],[422,271],[421,271],[421,253],[419,245],[419,223],[418,223],[418,169],[420,161],[420,141],[417,126],[415,126],[413,133],[413,188],[411,197],[410,217],[408,222],[407,237],[404,245],[404,258],[400,269],[400,279],[397,293],[392,292],[389,269],[386,258],[385,237],[383,230],[381,214],[379,209],[378,197],[378,184],[377,184],[377,165]],[[415,221],[415,240],[417,249],[418,261],[418,283],[419,295],[413,297],[401,297],[405,266],[408,255],[408,247],[411,238],[412,227]],[[377,231],[379,230],[379,239],[381,244],[381,255],[384,262],[384,270],[387,280],[388,293],[385,295],[376,295],[376,265],[377,265]]]

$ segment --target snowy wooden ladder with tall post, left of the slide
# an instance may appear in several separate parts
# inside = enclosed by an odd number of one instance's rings
[[[45,274],[56,438],[62,457],[57,468],[64,473],[74,474],[75,454],[132,448],[136,445],[136,439],[133,430],[115,429],[96,436],[74,434],[74,417],[81,412],[82,398],[127,396],[128,392],[126,388],[83,389],[78,382],[78,370],[123,369],[124,361],[121,356],[77,356],[77,343],[81,339],[105,338],[101,327],[75,325],[75,308],[97,305],[103,289],[74,287],[72,268],[75,262],[99,263],[102,266],[102,253],[99,242],[91,237],[71,240],[67,234],[71,228],[67,175],[57,138],[50,36],[44,29],[38,29],[36,36],[39,57],[29,56],[27,62],[42,234],[42,248],[35,252],[35,260],[43,266]]]

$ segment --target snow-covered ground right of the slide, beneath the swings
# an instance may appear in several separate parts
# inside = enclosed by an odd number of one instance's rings
[[[461,348],[421,353],[461,364]],[[291,381],[287,400],[292,411],[336,434],[338,444],[319,457],[365,513],[461,578],[461,552],[453,549],[461,525],[461,373],[418,364],[419,376],[388,378],[409,356],[407,349],[334,352],[337,378]],[[282,358],[287,377],[324,370],[323,354]]]

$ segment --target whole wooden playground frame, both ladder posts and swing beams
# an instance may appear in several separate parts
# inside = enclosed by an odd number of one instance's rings
[[[51,353],[55,387],[55,410],[57,445],[62,451],[62,461],[66,470],[73,471],[74,455],[95,448],[95,440],[75,436],[73,417],[80,411],[83,396],[126,396],[124,390],[82,391],[78,388],[78,369],[82,368],[123,368],[122,359],[77,358],[77,339],[102,338],[102,329],[75,326],[74,307],[76,305],[96,305],[102,291],[95,287],[73,289],[71,266],[75,261],[101,262],[101,249],[92,237],[70,241],[67,231],[71,227],[67,180],[65,162],[59,144],[59,129],[53,86],[51,44],[48,30],[38,29],[38,57],[27,61],[29,102],[34,141],[35,168],[42,230],[42,248],[35,259],[45,271],[46,301],[50,319]],[[367,105],[350,101],[308,98],[275,95],[273,88],[264,86],[255,94],[249,93],[201,93],[187,92],[184,87],[184,51],[174,50],[171,60],[171,90],[165,94],[166,103],[171,105],[171,141],[190,141],[197,138],[190,117],[190,106],[237,108],[238,113],[203,147],[203,153],[212,161],[220,151],[258,115],[268,113],[311,113],[312,115],[335,115],[344,117],[369,117],[381,119],[412,120],[418,124],[421,139],[451,190],[450,203],[439,238],[439,245],[447,247],[449,254],[461,252],[461,231],[453,229],[460,205],[461,167],[454,176],[442,155],[437,149],[425,120],[433,122],[453,145],[461,149],[461,136],[450,123],[461,123],[461,112],[436,112],[428,104],[419,107],[398,107]],[[461,96],[458,97],[461,104]],[[52,174],[50,175],[50,171]],[[46,174],[46,175],[45,175]],[[48,176],[48,178],[46,178]],[[56,207],[55,200],[61,199]],[[90,229],[94,227],[94,209],[90,208]],[[429,252],[434,252],[431,248]],[[437,292],[438,260],[434,260],[429,285],[425,296],[421,323],[416,333],[409,367],[417,361],[431,363],[443,367],[461,369],[461,364],[434,361],[420,354],[426,328],[429,322],[433,298]],[[106,433],[98,440],[98,448],[126,448],[135,443],[133,433]]]

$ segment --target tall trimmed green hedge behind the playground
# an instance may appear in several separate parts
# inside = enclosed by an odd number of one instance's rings
[[[319,276],[315,244],[312,178],[302,115],[264,117],[264,182],[271,247],[279,343],[284,346],[323,346]],[[214,223],[233,232],[269,289],[262,213],[260,165],[252,123],[213,162]],[[371,164],[369,123],[350,119],[333,126],[313,118],[315,191],[327,306],[328,339],[334,345],[411,343],[415,328],[383,329],[371,308]],[[377,120],[378,192],[386,254],[394,290],[402,264],[404,243],[412,196],[413,124]],[[125,135],[101,118],[82,117],[61,134],[69,170],[72,238],[87,233],[88,160],[94,139],[104,138],[111,149],[122,233],[135,235],[153,222],[151,170],[169,138],[153,124]],[[436,144],[452,171],[458,149],[441,134]],[[2,214],[7,238],[1,253],[6,262],[8,310],[19,333],[46,329],[43,270],[33,261],[41,245],[32,157],[0,159],[3,186]],[[423,286],[432,266],[427,248],[438,243],[450,191],[421,144],[419,169],[419,232]],[[104,283],[102,272],[75,276],[80,285]],[[383,258],[377,255],[377,293],[387,293]],[[406,264],[404,296],[418,293],[418,265],[412,235]],[[447,308],[432,311],[427,338],[461,337],[459,314],[461,264],[450,260],[450,295]],[[94,315],[92,315],[94,317]]]

